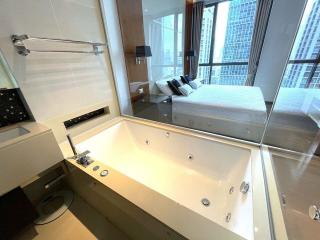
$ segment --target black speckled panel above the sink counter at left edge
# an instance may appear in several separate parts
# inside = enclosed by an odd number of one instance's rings
[[[0,128],[30,120],[18,89],[0,89]]]

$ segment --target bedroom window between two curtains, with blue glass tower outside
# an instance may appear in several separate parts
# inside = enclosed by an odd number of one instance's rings
[[[256,0],[223,1],[203,12],[198,77],[206,84],[244,85]]]

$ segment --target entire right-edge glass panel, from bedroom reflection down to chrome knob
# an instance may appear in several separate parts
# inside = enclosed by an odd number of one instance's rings
[[[263,139],[277,147],[269,152],[289,240],[320,230],[320,1],[306,2]]]

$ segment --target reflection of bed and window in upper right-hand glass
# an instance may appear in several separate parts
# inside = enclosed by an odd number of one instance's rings
[[[310,154],[319,152],[320,142],[319,9],[317,0],[306,4],[264,139]]]

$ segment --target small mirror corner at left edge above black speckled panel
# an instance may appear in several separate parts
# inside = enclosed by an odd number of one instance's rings
[[[18,84],[11,73],[10,67],[0,50],[0,89],[17,88]]]

